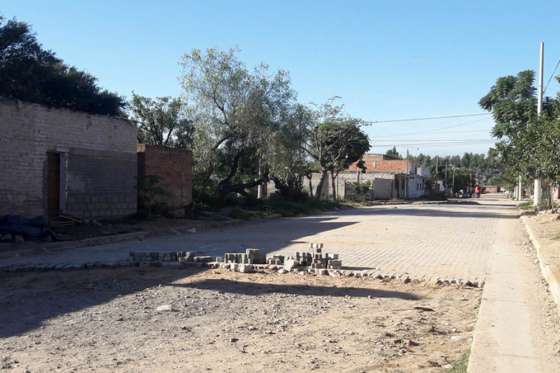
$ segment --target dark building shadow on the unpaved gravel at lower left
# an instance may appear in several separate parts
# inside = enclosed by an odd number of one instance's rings
[[[203,270],[124,268],[1,275],[0,338],[22,335],[49,319],[167,285]]]

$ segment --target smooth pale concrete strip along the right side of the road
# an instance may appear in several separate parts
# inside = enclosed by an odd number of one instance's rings
[[[560,371],[559,314],[520,220],[502,221],[491,261],[468,371]]]

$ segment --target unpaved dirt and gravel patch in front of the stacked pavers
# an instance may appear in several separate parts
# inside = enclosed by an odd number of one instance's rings
[[[464,360],[480,290],[122,268],[4,274],[8,372],[436,372]]]

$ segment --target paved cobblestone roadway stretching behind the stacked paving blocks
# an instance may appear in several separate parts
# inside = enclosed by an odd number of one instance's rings
[[[483,278],[501,219],[516,219],[514,204],[485,197],[478,204],[408,204],[275,219],[202,233],[120,242],[51,255],[1,260],[0,267],[29,263],[80,263],[125,259],[130,250],[192,250],[221,255],[247,247],[267,253],[306,250],[322,242],[343,265],[408,273],[415,277]]]

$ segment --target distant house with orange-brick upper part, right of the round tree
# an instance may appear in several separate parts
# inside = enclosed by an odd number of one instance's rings
[[[370,183],[374,199],[416,199],[426,194],[426,179],[429,172],[417,168],[407,159],[386,159],[382,154],[366,154],[362,158],[366,172],[355,162],[347,170],[340,172],[335,180],[338,198],[346,198],[353,192],[354,183]],[[420,174],[418,173],[420,172]],[[321,175],[313,174],[311,186],[316,188]],[[308,186],[306,186],[309,189]],[[321,193],[332,196],[329,179],[324,183]]]

